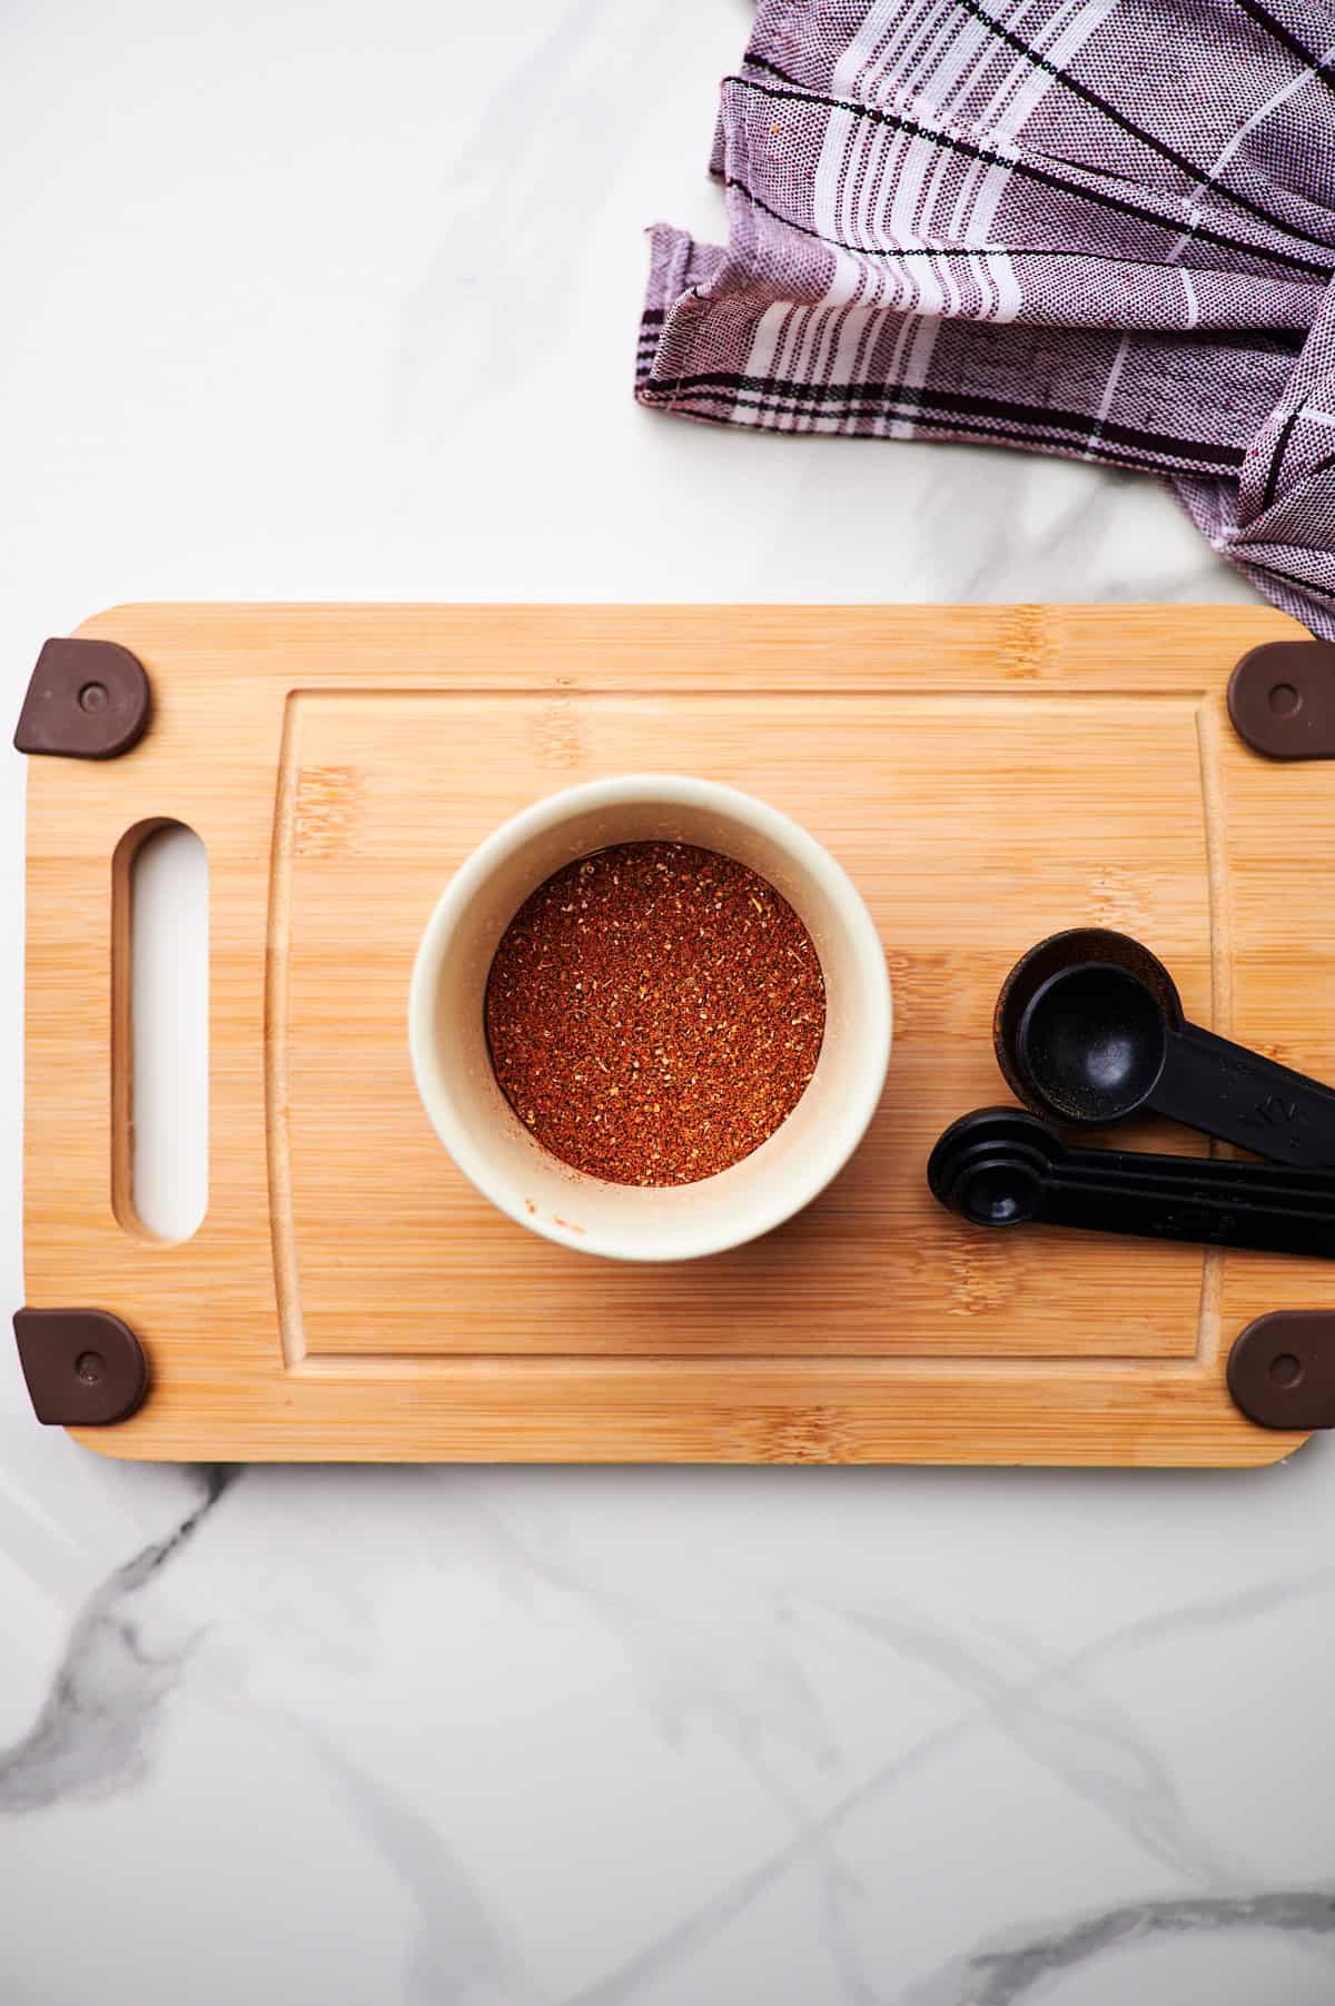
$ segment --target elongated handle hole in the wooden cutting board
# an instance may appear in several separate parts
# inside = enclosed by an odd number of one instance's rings
[[[110,1194],[141,1240],[209,1210],[209,857],[185,822],[139,822],[112,861]]]

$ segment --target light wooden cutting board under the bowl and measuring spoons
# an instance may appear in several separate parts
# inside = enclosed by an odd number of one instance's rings
[[[149,1458],[1261,1464],[1303,1438],[1225,1358],[1321,1262],[942,1212],[923,1165],[1006,1099],[1002,977],[1106,925],[1190,1017],[1335,1077],[1335,774],[1235,736],[1253,608],[130,606],[153,724],[28,762],[26,1288],[143,1342]],[[620,770],[729,780],[843,861],[895,1047],[847,1172],[767,1240],[683,1266],[522,1232],[418,1103],[406,997],[466,853]],[[211,873],[209,1212],[137,1224],[124,1133],[128,861]],[[112,863],[114,861],[114,863]],[[1207,1145],[1146,1125],[1130,1145]]]

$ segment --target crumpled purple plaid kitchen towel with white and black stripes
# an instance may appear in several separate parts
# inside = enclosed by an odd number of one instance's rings
[[[1335,638],[1335,10],[763,0],[636,395],[1166,475]]]

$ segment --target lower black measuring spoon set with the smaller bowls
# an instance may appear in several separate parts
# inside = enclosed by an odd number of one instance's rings
[[[1335,1260],[1335,1176],[1275,1163],[1072,1149],[1022,1107],[952,1121],[927,1161],[931,1196],[972,1226],[1078,1226]]]

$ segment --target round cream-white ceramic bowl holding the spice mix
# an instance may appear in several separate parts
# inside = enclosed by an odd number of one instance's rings
[[[699,1184],[606,1184],[560,1163],[492,1073],[484,997],[500,937],[544,879],[612,843],[697,843],[759,871],[797,911],[825,975],[825,1039],[801,1101],[759,1149]],[[719,1254],[809,1204],[875,1111],[889,1029],[879,935],[829,851],[751,794],[652,772],[572,786],[490,834],[432,913],[408,1005],[418,1091],[464,1176],[530,1232],[616,1260]]]

